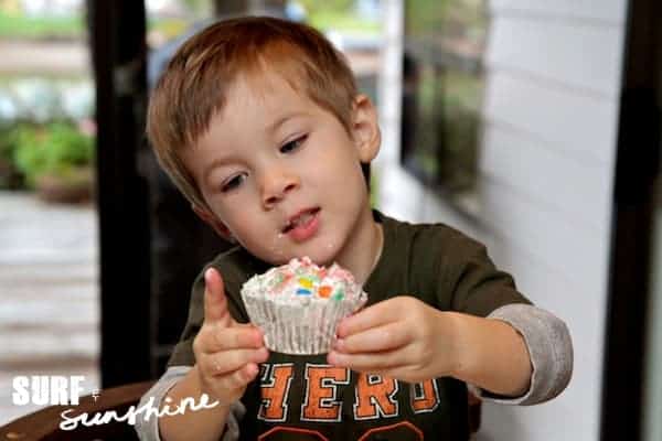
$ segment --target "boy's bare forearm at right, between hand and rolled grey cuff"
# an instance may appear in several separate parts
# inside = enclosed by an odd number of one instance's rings
[[[498,395],[526,392],[533,368],[522,335],[500,320],[455,314],[460,342],[453,376]]]

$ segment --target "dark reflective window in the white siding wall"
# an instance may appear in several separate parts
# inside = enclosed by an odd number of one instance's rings
[[[474,213],[488,11],[483,0],[406,0],[401,160]]]

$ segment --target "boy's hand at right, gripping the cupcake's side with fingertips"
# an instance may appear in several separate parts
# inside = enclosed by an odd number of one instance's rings
[[[455,314],[396,297],[341,321],[328,361],[409,383],[453,375],[460,365]]]

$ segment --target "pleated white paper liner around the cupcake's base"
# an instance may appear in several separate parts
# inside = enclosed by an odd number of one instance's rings
[[[338,322],[365,303],[356,300],[301,298],[296,302],[244,295],[250,322],[265,333],[265,344],[270,351],[314,355],[331,351]]]

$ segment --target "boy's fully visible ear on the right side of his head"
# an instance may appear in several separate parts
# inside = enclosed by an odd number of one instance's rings
[[[361,162],[370,163],[377,155],[382,143],[377,110],[371,99],[363,94],[354,98],[353,107],[352,136],[354,143],[359,149]]]

